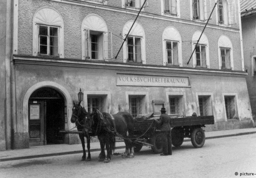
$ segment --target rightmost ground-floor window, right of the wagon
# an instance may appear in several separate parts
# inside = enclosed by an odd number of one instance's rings
[[[224,96],[227,119],[238,119],[235,96]]]

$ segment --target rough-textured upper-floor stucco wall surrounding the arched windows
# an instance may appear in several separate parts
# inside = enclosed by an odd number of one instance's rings
[[[111,4],[109,2],[109,4]],[[150,1],[150,4],[154,2]],[[160,3],[156,3],[160,4]],[[181,14],[186,12],[185,7],[189,3],[181,3]],[[113,4],[114,5],[114,4]],[[124,24],[129,20],[134,20],[135,15],[127,14],[125,11],[114,12],[108,10],[100,10],[96,8],[82,7],[66,3],[57,3],[53,1],[42,1],[42,0],[20,0],[19,1],[19,43],[18,43],[18,53],[24,55],[32,55],[32,19],[35,11],[40,7],[53,7],[62,16],[64,20],[64,46],[65,58],[76,58],[81,59],[81,23],[86,15],[95,13],[101,16],[113,35],[113,55],[115,56],[121,46],[122,39],[119,38],[120,33]],[[150,7],[151,7],[150,6]],[[159,6],[159,5],[158,5]],[[154,6],[160,8],[158,6]],[[150,9],[150,7],[147,7]],[[188,8],[188,7],[187,7]],[[161,11],[160,11],[161,12]],[[190,14],[185,13],[186,16]],[[185,15],[184,14],[184,15]],[[182,15],[182,16],[184,16]],[[120,18],[122,17],[122,18]],[[215,17],[213,16],[213,19]],[[75,20],[74,20],[75,19]],[[184,17],[184,19],[186,19]],[[169,22],[166,20],[158,20],[147,17],[139,17],[138,23],[142,25],[145,30],[146,39],[146,60],[147,64],[150,65],[162,65],[163,64],[163,54],[162,54],[162,33],[164,29],[168,26],[175,27],[181,34],[181,39],[184,41],[182,43],[182,55],[183,55],[183,66],[192,66],[192,61],[187,65],[188,59],[192,52],[191,39],[197,30],[203,30],[203,27],[198,27],[193,24],[184,24],[177,22]],[[212,23],[214,24],[214,22]],[[204,32],[209,40],[210,49],[210,66],[212,69],[219,69],[218,60],[218,47],[217,42],[219,37],[223,34],[230,38],[233,44],[233,56],[234,56],[234,70],[242,70],[241,62],[241,50],[240,50],[240,39],[239,32],[231,32],[222,29],[207,28]],[[117,36],[119,37],[117,37]],[[119,53],[118,59],[122,62],[122,50]]]

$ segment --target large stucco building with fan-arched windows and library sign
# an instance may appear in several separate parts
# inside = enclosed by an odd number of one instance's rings
[[[88,110],[132,116],[214,115],[208,131],[253,126],[240,4],[148,0],[14,0],[10,77],[14,148],[78,142],[70,122],[81,88]],[[192,59],[190,55],[196,47]],[[11,120],[8,120],[11,119]],[[10,129],[6,131],[9,133]]]

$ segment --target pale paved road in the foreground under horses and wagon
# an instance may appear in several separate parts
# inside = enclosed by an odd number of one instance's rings
[[[113,156],[106,164],[97,161],[98,154],[93,152],[90,162],[80,161],[81,154],[0,162],[0,177],[256,178],[246,175],[256,174],[256,134],[209,139],[198,149],[185,142],[181,148],[173,149],[172,156],[151,154],[150,148],[143,147],[135,158]]]

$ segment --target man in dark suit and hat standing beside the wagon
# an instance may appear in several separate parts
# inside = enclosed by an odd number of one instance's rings
[[[156,122],[160,125],[160,131],[163,133],[163,153],[160,155],[172,155],[170,116],[166,114],[165,108],[161,108],[161,116]]]

